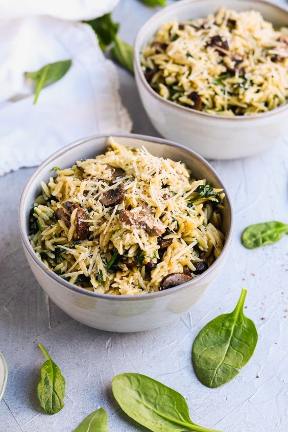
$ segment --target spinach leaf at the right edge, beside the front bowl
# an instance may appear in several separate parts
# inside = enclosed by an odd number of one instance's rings
[[[284,234],[288,234],[288,225],[277,221],[263,222],[245,228],[241,241],[246,248],[254,249],[278,242]]]

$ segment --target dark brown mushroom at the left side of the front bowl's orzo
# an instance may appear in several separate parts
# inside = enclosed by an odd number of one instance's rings
[[[71,201],[66,201],[64,203],[64,208],[58,208],[55,211],[55,216],[58,220],[61,220],[64,222],[67,228],[70,228],[70,215],[71,213],[77,208],[76,213],[76,226],[75,231],[73,233],[73,239],[74,240],[84,240],[84,238],[87,238],[88,236],[88,223],[83,221],[83,219],[87,219],[87,213],[86,211],[81,208],[78,204],[75,204]]]

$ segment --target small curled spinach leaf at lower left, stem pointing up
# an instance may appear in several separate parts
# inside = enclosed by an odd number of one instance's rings
[[[65,378],[45,348],[41,344],[38,347],[43,351],[47,360],[41,368],[41,381],[37,387],[37,396],[41,407],[47,414],[56,414],[64,406]]]

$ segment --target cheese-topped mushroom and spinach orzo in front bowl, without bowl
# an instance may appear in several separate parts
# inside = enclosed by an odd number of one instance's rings
[[[109,145],[41,182],[30,218],[36,254],[101,294],[157,292],[203,273],[225,242],[223,189],[144,147]]]

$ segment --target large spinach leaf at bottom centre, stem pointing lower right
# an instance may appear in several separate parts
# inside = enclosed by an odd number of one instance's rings
[[[193,423],[184,397],[149,376],[116,375],[112,380],[112,392],[129,417],[154,432],[217,432]]]

